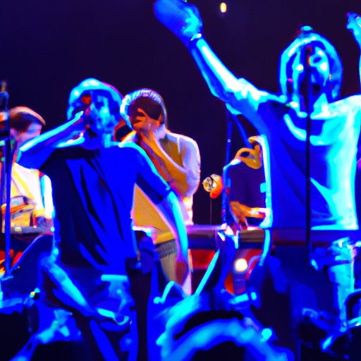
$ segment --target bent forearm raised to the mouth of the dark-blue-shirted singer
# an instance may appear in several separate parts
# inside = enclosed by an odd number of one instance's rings
[[[39,169],[57,147],[65,145],[69,140],[81,140],[80,135],[85,130],[82,113],[76,114],[71,121],[26,142],[20,147],[18,164],[26,168]]]

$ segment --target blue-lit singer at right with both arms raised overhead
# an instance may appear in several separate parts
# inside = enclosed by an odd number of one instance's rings
[[[283,334],[282,341],[299,355],[296,348],[300,345],[292,345],[299,336],[293,341],[286,340],[298,334],[302,310],[307,307],[326,310],[332,321],[324,322],[322,327],[329,334],[340,332],[345,322],[345,299],[353,291],[352,249],[358,229],[354,184],[361,97],[339,99],[341,61],[331,43],[311,27],[302,27],[298,37],[282,52],[281,94],[271,94],[244,78],[236,78],[224,66],[202,35],[202,19],[195,6],[182,0],[157,0],[154,11],[159,21],[188,47],[212,94],[233,114],[243,114],[264,138],[266,206],[271,209],[264,227],[279,231],[279,244],[305,241],[307,198],[310,199],[312,244],[317,240],[326,244],[322,250],[312,249],[315,251],[312,264],[316,269],[326,269],[329,281],[312,284],[310,280],[320,277],[320,273],[312,271],[308,261],[300,261],[305,252],[298,252],[296,246],[276,246],[276,255],[291,286],[293,331],[285,332],[283,328],[282,332],[276,325],[271,326],[275,326],[276,334]],[[348,15],[348,28],[359,46],[360,23],[360,17]],[[296,274],[292,272],[295,264],[299,265]],[[281,279],[278,277],[275,282]],[[332,300],[332,296],[320,290],[320,284],[324,285],[322,290],[333,293],[334,302],[325,300]],[[286,290],[285,285],[281,288]]]

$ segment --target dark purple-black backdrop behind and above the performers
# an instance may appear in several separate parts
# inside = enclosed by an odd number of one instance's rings
[[[228,0],[224,15],[220,2],[192,1],[209,44],[238,77],[278,92],[279,54],[307,24],[341,56],[342,96],[359,92],[359,51],[345,23],[348,11],[361,13],[360,0]],[[151,87],[164,97],[169,128],[198,142],[201,180],[221,173],[226,109],[181,41],[154,18],[152,0],[3,0],[0,15],[0,80],[8,82],[10,106],[30,106],[49,129],[66,120],[68,93],[84,78],[109,82],[122,94]],[[232,156],[241,146],[235,135]],[[198,224],[221,221],[220,200],[211,212],[202,185],[194,210]]]

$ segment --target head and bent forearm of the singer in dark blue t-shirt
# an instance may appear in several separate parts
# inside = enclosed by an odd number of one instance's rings
[[[74,104],[85,91],[92,95],[92,103],[73,114]],[[20,147],[18,161],[26,164],[27,168],[38,169],[55,148],[80,144],[87,149],[108,147],[111,145],[114,126],[121,118],[120,103],[121,95],[111,86],[92,78],[83,80],[80,85],[73,88],[69,96],[69,121],[26,142]],[[27,156],[27,152],[31,152],[32,155]]]

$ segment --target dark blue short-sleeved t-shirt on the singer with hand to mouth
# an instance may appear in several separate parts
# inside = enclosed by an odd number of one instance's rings
[[[136,257],[130,218],[135,183],[155,204],[170,192],[145,152],[134,144],[66,147],[40,169],[53,185],[60,262],[125,274],[125,259]]]

